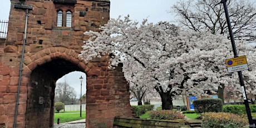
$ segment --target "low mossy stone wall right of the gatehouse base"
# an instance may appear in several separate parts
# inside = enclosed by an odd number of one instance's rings
[[[178,128],[185,125],[184,120],[151,120],[151,119],[136,119],[132,117],[115,117],[113,127],[125,128],[125,127],[147,127],[147,128],[161,128],[170,127]]]

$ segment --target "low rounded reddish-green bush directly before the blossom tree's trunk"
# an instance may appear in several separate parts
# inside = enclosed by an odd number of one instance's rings
[[[175,110],[156,110],[148,112],[151,119],[156,120],[177,120],[184,119],[185,115],[181,114],[180,111]]]

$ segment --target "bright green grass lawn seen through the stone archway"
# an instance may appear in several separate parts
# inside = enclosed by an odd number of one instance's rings
[[[55,113],[54,122],[57,123],[58,119],[60,119],[60,123],[85,119],[85,112],[82,112],[82,117],[80,117],[80,112],[77,112],[77,113],[66,112],[66,113],[58,113],[58,114]]]

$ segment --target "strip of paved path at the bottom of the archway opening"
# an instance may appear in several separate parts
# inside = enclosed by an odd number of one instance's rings
[[[53,125],[53,128],[85,128],[85,119],[82,120],[76,120],[71,122],[65,122],[61,124],[55,123]]]

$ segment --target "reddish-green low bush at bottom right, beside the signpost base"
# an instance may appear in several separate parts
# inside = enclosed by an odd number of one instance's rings
[[[201,116],[202,127],[240,128],[248,124],[245,117],[227,112],[206,112]]]

